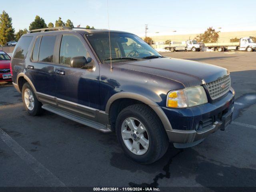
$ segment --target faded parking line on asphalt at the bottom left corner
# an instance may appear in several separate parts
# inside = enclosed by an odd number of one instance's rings
[[[52,172],[45,168],[40,162],[38,162],[32,155],[30,155],[22,146],[20,146],[15,140],[13,140],[6,132],[0,128],[0,138],[10,147],[28,166],[40,176],[49,186],[65,187],[65,184],[61,182]],[[66,188],[70,191],[70,189]]]

